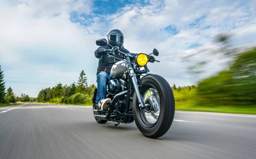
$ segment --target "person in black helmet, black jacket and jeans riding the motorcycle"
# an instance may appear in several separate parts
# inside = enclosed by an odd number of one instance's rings
[[[111,30],[108,35],[108,44],[111,46],[118,46],[119,50],[121,52],[129,53],[127,49],[124,48],[124,35],[122,32],[118,29]],[[114,53],[113,57],[106,56],[107,52],[105,52],[106,49],[112,49],[111,46],[99,46],[98,49],[94,52],[95,57],[99,58],[99,64],[97,68],[97,95],[96,95],[96,102],[99,105],[99,108],[101,110],[108,110],[109,105],[107,103],[111,102],[110,98],[106,98],[107,96],[107,83],[110,80],[110,72],[113,64],[115,64],[118,61],[121,61],[119,59],[124,59],[122,55],[119,55],[118,53]]]

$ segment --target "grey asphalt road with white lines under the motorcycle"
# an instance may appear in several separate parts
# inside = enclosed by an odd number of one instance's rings
[[[159,139],[96,123],[92,107],[0,108],[0,159],[256,159],[256,116],[176,112]]]

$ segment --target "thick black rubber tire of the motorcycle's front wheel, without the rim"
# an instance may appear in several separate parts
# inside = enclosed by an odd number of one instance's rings
[[[155,124],[148,126],[143,119],[142,110],[139,108],[137,95],[134,93],[133,99],[133,114],[134,121],[140,132],[149,138],[159,138],[163,136],[171,127],[175,114],[175,100],[172,93],[172,88],[168,82],[159,75],[147,75],[141,80],[142,87],[140,93],[143,94],[152,87],[157,90],[160,98],[160,113]],[[145,115],[144,115],[145,116]]]

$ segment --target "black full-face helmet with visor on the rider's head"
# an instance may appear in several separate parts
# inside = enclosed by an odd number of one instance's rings
[[[111,46],[118,46],[119,49],[122,48],[123,44],[124,44],[124,35],[122,34],[122,32],[118,29],[113,29],[111,30],[108,35],[108,44],[110,44]]]

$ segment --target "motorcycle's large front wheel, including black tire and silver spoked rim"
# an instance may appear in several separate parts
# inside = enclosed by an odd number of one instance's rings
[[[147,75],[141,80],[140,93],[145,109],[140,109],[137,94],[134,93],[134,121],[140,132],[149,138],[163,136],[171,127],[175,113],[172,88],[159,75]]]

